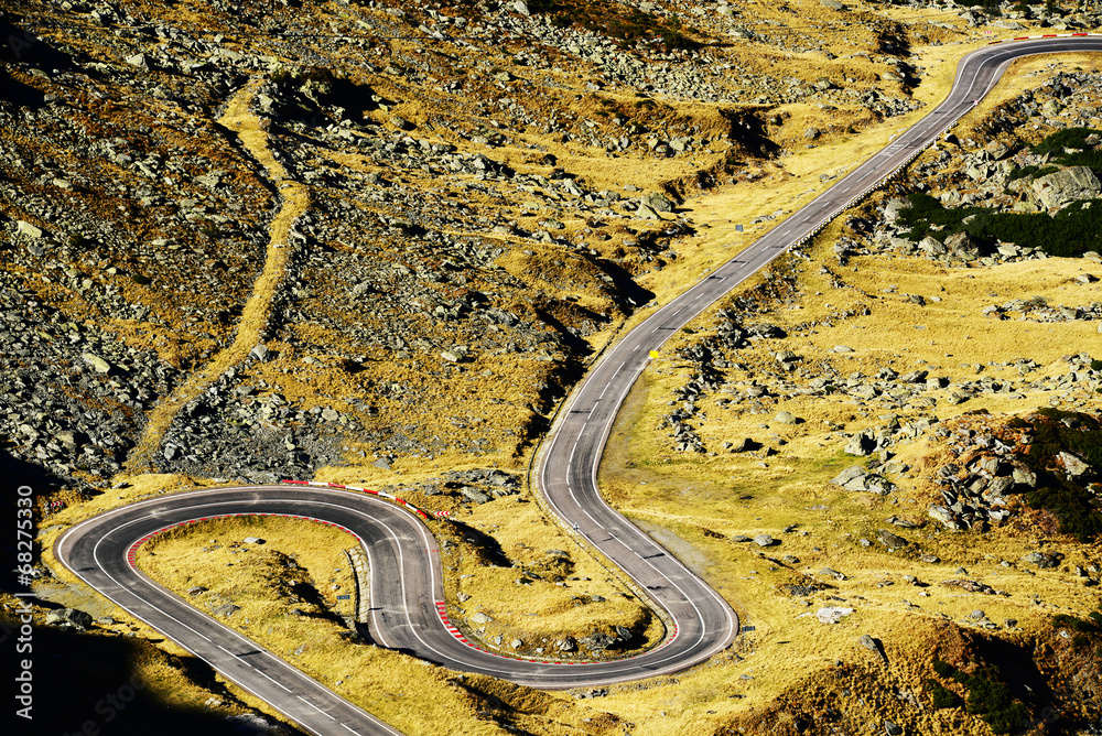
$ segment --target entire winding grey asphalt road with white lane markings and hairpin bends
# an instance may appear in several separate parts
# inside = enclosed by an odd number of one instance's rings
[[[536,688],[608,684],[683,670],[726,648],[738,631],[731,607],[706,583],[609,508],[597,465],[627,392],[658,349],[755,271],[801,243],[878,186],[974,107],[1006,64],[1030,54],[1102,51],[1102,36],[1016,41],[962,59],[949,98],[841,182],[777,225],[695,286],[627,334],[574,392],[553,427],[538,469],[551,509],[618,564],[666,611],[663,643],[615,661],[557,664],[473,647],[442,613],[441,566],[428,528],[408,510],[364,493],[252,486],[150,499],[83,521],[55,544],[57,559],[120,607],[206,660],[315,734],[397,734],[271,652],[162,588],[133,565],[133,552],[168,527],[223,515],[278,513],[335,523],[358,535],[368,554],[371,637],[450,669]]]

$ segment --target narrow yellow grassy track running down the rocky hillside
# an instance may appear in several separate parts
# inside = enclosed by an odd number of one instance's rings
[[[180,410],[218,380],[223,374],[244,360],[260,340],[261,332],[271,314],[272,299],[283,280],[290,258],[290,249],[285,246],[291,226],[310,206],[309,191],[301,183],[288,177],[287,170],[272,156],[268,148],[268,134],[261,128],[260,119],[249,111],[249,104],[260,84],[261,79],[253,79],[234,95],[219,122],[236,132],[246,150],[268,171],[269,180],[279,187],[283,201],[282,207],[268,227],[268,255],[264,268],[252,285],[252,293],[245,304],[234,342],[176,387],[172,396],[161,401],[150,412],[149,423],[127,459],[127,468],[133,473],[148,472],[153,467],[161,441]]]

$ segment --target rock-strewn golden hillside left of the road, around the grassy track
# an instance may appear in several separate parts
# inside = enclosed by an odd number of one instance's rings
[[[357,456],[520,452],[598,335],[648,301],[637,279],[690,231],[674,213],[687,192],[915,109],[909,45],[987,20],[809,7],[793,30],[789,8],[335,3],[311,21],[324,35],[272,34],[295,24],[291,4],[8,9],[9,291],[149,351],[111,368],[136,379],[118,439],[77,421],[36,429],[79,435],[50,446],[11,418],[17,452],[72,483],[116,472],[161,396],[141,375],[186,376],[233,342],[285,191],[218,122],[250,78],[310,204],[262,353],[188,398],[139,464],[272,479]],[[845,48],[824,41],[843,30]],[[601,163],[617,160],[650,171]],[[67,359],[46,365],[89,365],[82,340],[53,343]]]

